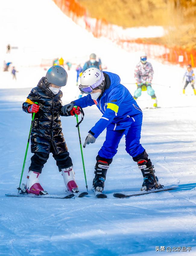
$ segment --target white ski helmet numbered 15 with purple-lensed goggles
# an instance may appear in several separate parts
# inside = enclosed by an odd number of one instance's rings
[[[96,67],[90,67],[82,74],[79,88],[82,89],[84,93],[90,93],[90,91],[92,92],[96,87],[103,89],[105,86],[104,80],[105,77],[101,70]]]

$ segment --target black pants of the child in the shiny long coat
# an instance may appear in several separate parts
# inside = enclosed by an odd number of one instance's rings
[[[54,159],[56,160],[56,165],[58,166],[59,172],[61,172],[62,169],[68,168],[73,165],[68,151],[59,153],[57,155],[55,154],[52,148],[51,153]],[[44,164],[47,162],[48,158],[49,153],[35,152],[34,155],[31,157],[31,165],[29,167],[29,170],[41,173],[42,168]]]

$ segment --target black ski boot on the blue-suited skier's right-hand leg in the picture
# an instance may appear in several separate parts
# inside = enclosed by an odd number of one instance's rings
[[[157,182],[158,179],[156,180],[154,175],[154,166],[152,165],[150,159],[140,159],[137,163],[138,168],[141,170],[144,177],[141,190],[148,191],[152,188],[158,188],[160,184]]]

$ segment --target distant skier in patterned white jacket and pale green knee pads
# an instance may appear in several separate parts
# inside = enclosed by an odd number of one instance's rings
[[[136,100],[141,96],[142,91],[146,91],[148,95],[154,100],[154,107],[157,107],[157,100],[155,92],[151,86],[153,79],[153,67],[150,62],[147,62],[147,54],[141,53],[140,62],[135,67],[134,77],[137,83],[137,90],[134,92],[134,99]]]

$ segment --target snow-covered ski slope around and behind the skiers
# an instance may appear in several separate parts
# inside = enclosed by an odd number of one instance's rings
[[[108,66],[108,71],[119,74],[122,83],[126,83],[131,93],[134,93],[135,85],[127,83],[134,83],[133,70],[138,62],[138,53],[128,53],[106,39],[93,38],[64,16],[52,1],[19,1],[26,8],[23,26],[14,11],[20,7],[19,4],[15,6],[17,3],[4,3],[4,9],[0,8],[3,10],[2,15],[6,14],[6,10],[9,11],[8,23],[13,25],[15,21],[18,31],[16,33],[14,29],[11,30],[13,34],[9,40],[12,42],[6,42],[4,37],[4,45],[13,43],[20,46],[18,52],[15,50],[15,54],[19,54],[15,58],[20,67],[18,80],[12,81],[9,73],[0,71],[0,255],[168,254],[156,252],[156,246],[192,247],[190,252],[176,254],[196,255],[196,103],[191,88],[186,90],[187,96],[182,95],[184,70],[177,66],[150,60],[155,71],[153,83],[160,84],[153,88],[161,108],[146,109],[152,105],[146,92],[138,99],[138,104],[144,113],[141,143],[155,166],[160,183],[179,185],[178,190],[129,199],[114,198],[113,192],[137,191],[142,183],[141,172],[125,152],[123,138],[106,177],[107,199],[95,199],[90,191],[86,198],[64,200],[5,197],[8,192],[17,192],[30,129],[31,116],[24,113],[21,106],[30,88],[36,86],[40,77],[46,74],[43,68],[23,66],[20,55],[25,57],[28,54],[29,63],[38,61],[36,58],[53,58],[61,54],[79,63],[95,51]],[[50,23],[49,17],[52,17]],[[63,35],[57,24],[65,24],[69,36]],[[37,38],[49,33],[49,28],[55,39],[48,40],[47,44],[39,40],[40,44],[36,44]],[[7,36],[8,32],[4,31],[4,34]],[[58,41],[59,35],[62,41],[58,47],[54,47],[53,43]],[[28,44],[30,48],[27,49]],[[24,49],[24,54],[20,49]],[[5,52],[5,47],[1,51]],[[78,94],[75,73],[74,67],[68,71],[68,85],[63,88],[64,103],[74,100]],[[84,110],[85,117],[80,126],[82,142],[101,116],[95,106]],[[85,191],[75,124],[74,117],[62,117],[63,132],[74,162],[76,180],[80,190]],[[95,157],[104,138],[105,132],[97,138],[96,143],[84,149],[89,189],[94,177]],[[31,156],[29,151],[23,182],[26,182]],[[43,168],[40,182],[51,194],[65,192],[62,176],[52,155]]]

